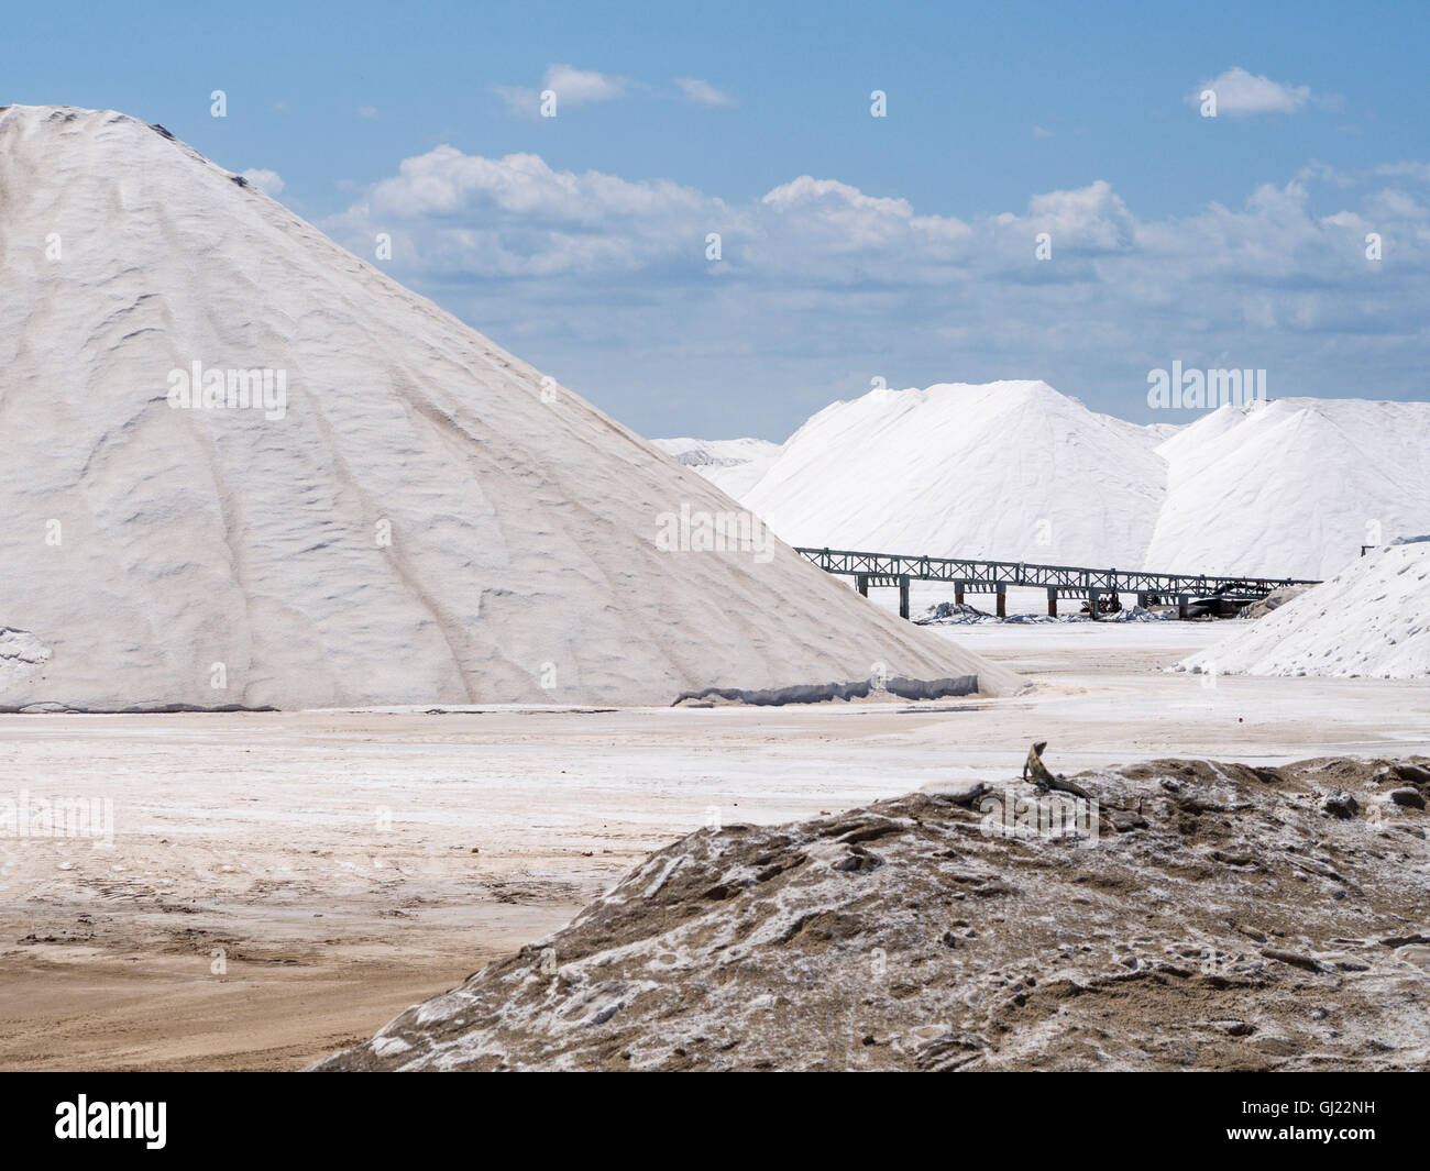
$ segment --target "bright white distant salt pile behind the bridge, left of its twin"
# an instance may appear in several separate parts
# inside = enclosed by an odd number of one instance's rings
[[[1044,382],[872,390],[811,417],[742,503],[792,545],[1134,569],[1158,439]]]

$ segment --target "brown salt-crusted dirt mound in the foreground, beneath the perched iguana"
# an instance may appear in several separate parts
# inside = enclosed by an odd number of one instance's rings
[[[1153,761],[1078,806],[965,784],[704,829],[316,1068],[1423,1068],[1427,766]]]

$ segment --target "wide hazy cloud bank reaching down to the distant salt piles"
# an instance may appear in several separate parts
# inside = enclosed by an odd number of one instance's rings
[[[809,174],[726,203],[442,146],[325,226],[360,255],[390,233],[393,275],[638,429],[685,402],[688,430],[775,435],[761,412],[792,426],[864,363],[899,385],[1031,372],[1113,413],[1125,393],[1128,415],[1174,357],[1264,367],[1278,393],[1370,393],[1367,372],[1423,393],[1424,166],[1311,166],[1187,216],[1140,217],[1098,180],[961,219]],[[1367,232],[1394,263],[1366,257]]]

